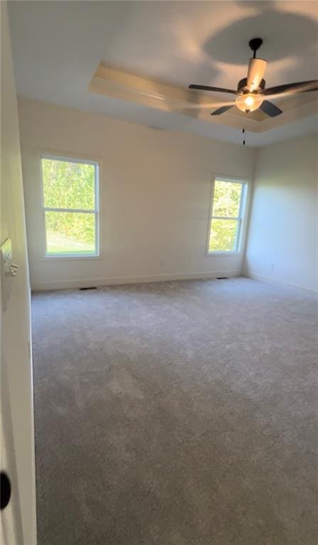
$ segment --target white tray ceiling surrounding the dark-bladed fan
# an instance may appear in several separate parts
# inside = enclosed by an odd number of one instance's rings
[[[318,79],[315,1],[24,0],[9,2],[9,18],[20,96],[237,143],[246,126],[250,146],[317,130],[317,93],[287,102],[274,122],[263,115],[212,118],[201,107],[160,107],[158,100],[92,85],[100,65],[178,92],[190,83],[236,88],[255,36],[264,41],[268,87]]]

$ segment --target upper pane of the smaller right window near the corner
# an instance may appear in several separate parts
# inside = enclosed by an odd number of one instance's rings
[[[213,215],[238,217],[243,185],[215,180]]]

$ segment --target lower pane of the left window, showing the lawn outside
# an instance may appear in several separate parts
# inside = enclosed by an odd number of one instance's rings
[[[95,254],[95,215],[45,212],[47,254]]]

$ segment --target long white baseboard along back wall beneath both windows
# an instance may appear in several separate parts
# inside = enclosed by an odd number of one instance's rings
[[[218,276],[240,276],[241,271],[234,269],[232,271],[214,271],[214,272],[197,272],[197,273],[179,273],[179,274],[150,274],[142,276],[116,276],[106,279],[85,279],[85,280],[69,280],[69,281],[51,281],[51,282],[34,282],[32,291],[50,291],[68,288],[89,288],[92,286],[114,286],[123,284],[147,284],[150,282],[167,282],[174,280],[199,280],[199,279],[216,279]]]

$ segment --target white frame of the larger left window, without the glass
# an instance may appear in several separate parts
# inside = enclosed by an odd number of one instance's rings
[[[66,260],[66,259],[101,259],[99,252],[99,176],[100,176],[100,162],[93,159],[78,157],[78,156],[68,156],[64,153],[46,153],[40,152],[40,199],[41,199],[41,208],[42,208],[42,225],[43,225],[43,260],[47,261],[48,259],[57,259],[57,260]],[[50,159],[52,161],[65,161],[67,163],[81,163],[84,165],[93,165],[94,166],[94,210],[80,209],[80,208],[52,208],[45,207],[44,203],[44,185],[43,185],[43,168],[42,168],[42,159]],[[45,212],[77,212],[84,214],[94,214],[95,218],[95,252],[94,254],[77,254],[75,252],[69,254],[48,254],[48,242],[46,234],[46,222],[45,222]]]

